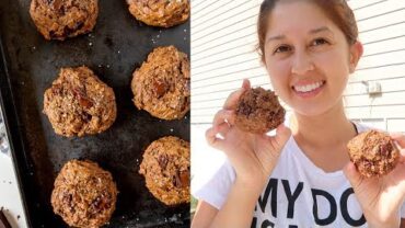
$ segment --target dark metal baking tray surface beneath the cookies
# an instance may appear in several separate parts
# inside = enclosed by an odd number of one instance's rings
[[[48,42],[30,18],[30,2],[0,0],[1,105],[28,226],[66,227],[51,210],[50,193],[62,164],[78,158],[99,162],[117,183],[117,208],[105,227],[189,227],[189,205],[165,206],[138,174],[153,140],[167,135],[189,140],[189,114],[180,121],[152,117],[135,107],[130,90],[132,71],[154,47],[174,45],[189,56],[189,21],[151,27],[130,15],[125,0],[100,0],[91,34]],[[44,92],[61,67],[81,65],[114,89],[117,118],[102,134],[65,138],[42,113]]]

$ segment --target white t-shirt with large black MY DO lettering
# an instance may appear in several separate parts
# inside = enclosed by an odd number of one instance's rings
[[[367,127],[357,124],[358,132]],[[333,162],[333,161],[331,161]],[[235,180],[229,161],[193,195],[220,209]],[[405,207],[401,210],[405,217]],[[326,173],[298,147],[287,141],[262,192],[252,227],[367,227],[361,207],[342,170]]]

